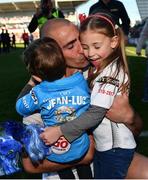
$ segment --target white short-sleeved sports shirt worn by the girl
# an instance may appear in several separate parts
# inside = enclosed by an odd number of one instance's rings
[[[116,79],[112,79],[117,68],[116,61],[110,63],[94,81],[91,94],[91,104],[109,109],[116,95],[121,95],[119,86],[123,81],[121,69]],[[126,75],[125,82],[128,76]],[[101,86],[102,82],[106,82]],[[112,148],[133,149],[136,142],[132,132],[123,123],[114,123],[103,119],[102,123],[94,130],[95,147],[98,151],[107,151]]]

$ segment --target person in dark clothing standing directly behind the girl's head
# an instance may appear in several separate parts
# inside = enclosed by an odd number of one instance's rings
[[[107,13],[112,16],[116,24],[122,27],[125,39],[127,40],[130,29],[130,19],[123,3],[117,0],[99,0],[90,7],[89,15],[100,12]],[[120,24],[120,20],[122,21],[122,24]]]

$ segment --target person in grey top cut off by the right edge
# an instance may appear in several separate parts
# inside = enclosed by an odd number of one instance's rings
[[[148,18],[146,19],[145,25],[138,39],[138,43],[136,47],[137,55],[141,55],[141,50],[143,47],[145,47],[146,74],[145,74],[145,80],[144,80],[144,95],[143,95],[142,101],[148,102]]]

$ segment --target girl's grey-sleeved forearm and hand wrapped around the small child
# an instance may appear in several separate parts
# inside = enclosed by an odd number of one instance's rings
[[[69,142],[72,142],[81,136],[84,131],[99,125],[106,112],[107,109],[92,105],[86,112],[73,121],[64,123],[61,126],[45,128],[45,131],[40,137],[46,145],[53,144],[61,135],[64,135]]]

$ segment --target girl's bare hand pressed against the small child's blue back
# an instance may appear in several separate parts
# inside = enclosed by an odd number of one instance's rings
[[[47,127],[45,128],[44,132],[40,134],[40,138],[46,145],[55,143],[60,136],[62,136],[60,126]]]

